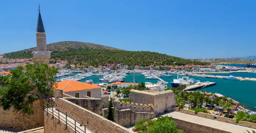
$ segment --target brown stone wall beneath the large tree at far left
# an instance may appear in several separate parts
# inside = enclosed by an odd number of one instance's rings
[[[3,107],[0,107],[0,126],[19,131],[43,126],[43,107],[39,100],[33,103],[33,111],[33,115],[26,115],[21,111],[15,111],[13,108],[4,111]]]

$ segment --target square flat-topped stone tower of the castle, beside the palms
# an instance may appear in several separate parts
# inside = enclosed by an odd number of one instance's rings
[[[153,104],[154,111],[158,113],[171,111],[175,107],[175,95],[172,90],[160,92],[131,90],[130,98],[133,103]]]

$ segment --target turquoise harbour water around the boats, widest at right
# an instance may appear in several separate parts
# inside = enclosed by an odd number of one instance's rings
[[[244,76],[256,78],[256,73],[216,73],[214,75],[229,75],[233,76]],[[125,82],[130,83],[133,82],[133,74],[128,73],[127,78],[125,78]],[[157,83],[157,79],[145,79],[141,73],[135,73],[136,82],[152,82]],[[173,82],[173,79],[177,78],[177,75],[173,75],[172,77],[163,77],[162,79],[166,82]],[[196,80],[200,80],[201,82],[216,82],[217,84],[214,86],[206,87],[203,89],[199,89],[200,91],[206,90],[211,93],[220,93],[224,96],[231,97],[234,100],[239,101],[244,107],[251,109],[254,111],[254,107],[256,107],[256,82],[254,81],[239,81],[239,80],[227,80],[227,79],[213,79],[213,78],[205,78],[205,77],[196,77],[189,76],[189,78],[193,78]],[[99,82],[100,76],[91,76],[89,78],[81,80],[81,82],[85,80],[92,79],[94,83]],[[170,83],[168,83],[168,87],[171,87]]]

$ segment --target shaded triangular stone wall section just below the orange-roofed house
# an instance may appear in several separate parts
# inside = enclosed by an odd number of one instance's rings
[[[64,98],[71,101],[89,111],[92,111],[98,115],[102,115],[102,99],[99,98]]]

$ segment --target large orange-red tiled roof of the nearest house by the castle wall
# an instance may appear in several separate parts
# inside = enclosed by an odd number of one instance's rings
[[[83,83],[75,80],[65,80],[61,82],[57,82],[56,89],[61,89],[63,92],[71,92],[71,91],[80,91],[80,90],[91,90],[91,89],[99,89],[102,88],[95,84],[91,85],[88,83]]]

